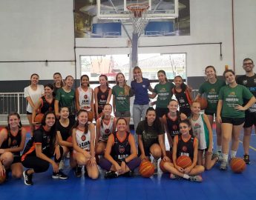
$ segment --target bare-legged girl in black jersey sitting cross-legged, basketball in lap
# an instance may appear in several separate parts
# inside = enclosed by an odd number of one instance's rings
[[[200,173],[203,173],[204,167],[197,165],[198,141],[190,134],[191,124],[188,119],[180,121],[181,135],[174,137],[174,147],[172,152],[172,161],[164,162],[163,167],[170,173],[171,179],[187,179],[189,181],[203,181]],[[179,156],[188,156],[192,164],[183,169],[177,165]]]

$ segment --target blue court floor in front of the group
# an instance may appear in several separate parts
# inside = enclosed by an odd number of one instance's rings
[[[215,141],[214,137],[214,141]],[[203,173],[203,182],[171,180],[161,170],[149,179],[140,176],[104,179],[103,172],[97,180],[76,178],[73,170],[65,167],[68,180],[51,178],[52,169],[36,174],[34,185],[26,186],[22,180],[10,179],[0,185],[0,199],[255,199],[256,196],[256,136],[252,135],[251,164],[241,174],[230,170],[220,171],[218,165]],[[243,146],[237,157],[243,156]],[[68,160],[66,161],[68,165]]]

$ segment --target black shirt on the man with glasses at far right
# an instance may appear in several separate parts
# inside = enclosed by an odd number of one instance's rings
[[[256,97],[256,74],[254,76],[239,76],[237,78],[237,84],[242,84],[247,87],[250,92]],[[249,99],[244,99],[244,105],[247,104]],[[248,110],[250,113],[256,113],[256,104],[252,104],[252,107]]]

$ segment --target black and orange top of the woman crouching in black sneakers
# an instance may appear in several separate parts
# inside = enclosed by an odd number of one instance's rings
[[[55,131],[50,130],[45,131],[43,127],[39,127],[35,130],[33,137],[27,141],[27,145],[24,148],[22,154],[22,161],[24,161],[26,156],[36,156],[36,144],[42,144],[42,153],[46,156],[53,156],[53,136]]]

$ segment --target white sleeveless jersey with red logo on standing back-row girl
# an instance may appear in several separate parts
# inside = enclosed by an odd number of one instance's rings
[[[88,90],[85,92],[85,90],[82,90],[82,87],[78,87],[80,109],[91,111],[92,90],[91,87],[88,87]]]

